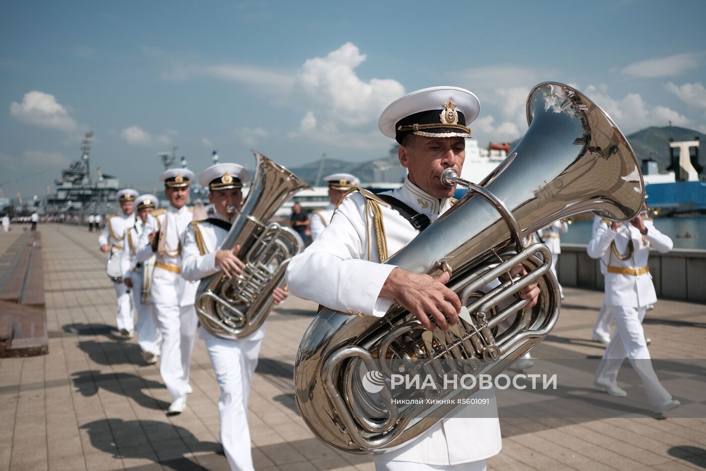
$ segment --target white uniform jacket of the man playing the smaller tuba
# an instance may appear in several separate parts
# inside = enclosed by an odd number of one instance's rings
[[[215,217],[227,221],[220,214]],[[228,231],[224,228],[208,221],[193,221],[189,224],[184,236],[184,252],[181,255],[181,276],[188,281],[196,281],[198,286],[201,279],[220,272],[221,268],[215,264],[216,252],[220,250],[227,235]],[[213,336],[203,328],[200,335],[202,339]],[[237,340],[237,337],[231,335],[217,335],[217,337]],[[240,340],[259,340],[263,337],[265,337],[264,324],[251,335]]]

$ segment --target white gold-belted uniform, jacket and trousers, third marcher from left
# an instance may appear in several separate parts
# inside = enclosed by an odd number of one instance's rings
[[[157,257],[152,272],[152,303],[162,330],[160,373],[173,400],[186,395],[189,360],[196,337],[193,302],[198,283],[186,281],[180,273],[184,233],[191,219],[191,210],[186,206],[176,209],[170,205],[166,210],[152,211],[140,236],[136,257],[138,262],[145,262],[152,255]],[[165,238],[162,255],[155,254],[150,247],[149,235],[153,231]]]

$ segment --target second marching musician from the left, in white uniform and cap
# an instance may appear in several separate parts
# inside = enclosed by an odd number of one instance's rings
[[[133,305],[137,311],[137,343],[140,345],[142,357],[147,364],[153,364],[157,361],[162,343],[162,332],[157,326],[157,314],[149,299],[150,292],[143,293],[143,289],[149,289],[151,286],[154,256],[146,262],[138,262],[137,249],[140,236],[142,236],[145,223],[147,223],[147,216],[159,205],[160,202],[154,194],[142,194],[135,200],[137,212],[135,226],[128,229],[121,258],[123,282],[128,289],[132,290]],[[143,279],[145,277],[146,279]]]

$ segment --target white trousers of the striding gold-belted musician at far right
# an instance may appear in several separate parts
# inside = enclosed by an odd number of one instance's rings
[[[645,387],[645,394],[652,407],[657,407],[671,400],[671,395],[659,383],[657,374],[652,368],[650,351],[645,343],[645,332],[642,330],[642,319],[645,318],[647,308],[626,308],[608,306],[612,317],[616,321],[616,332],[611,343],[606,347],[601,364],[594,378],[603,385],[615,385],[618,379],[618,370],[623,364],[623,359],[628,357]]]

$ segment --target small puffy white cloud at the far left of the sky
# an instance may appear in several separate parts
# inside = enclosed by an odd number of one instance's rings
[[[22,103],[13,101],[10,104],[10,114],[20,122],[47,129],[64,132],[75,132],[78,129],[76,121],[56,101],[54,95],[41,91],[26,93]]]

